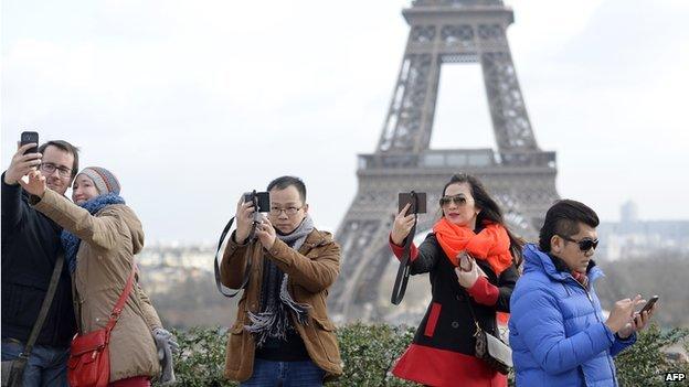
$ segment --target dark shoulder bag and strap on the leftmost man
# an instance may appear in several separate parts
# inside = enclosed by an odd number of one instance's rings
[[[24,350],[19,354],[19,358],[2,362],[2,379],[0,384],[2,387],[21,387],[23,385],[24,368],[26,367],[26,363],[29,363],[29,356],[31,356],[33,345],[36,338],[39,338],[39,333],[41,333],[41,329],[43,329],[43,323],[47,316],[47,310],[51,303],[53,303],[53,297],[55,295],[55,289],[57,289],[57,282],[60,282],[60,273],[62,272],[63,264],[64,254],[60,252],[57,261],[55,261],[55,267],[53,268],[53,275],[51,276],[47,291],[45,292],[45,298],[41,304],[41,311],[33,324],[33,329],[31,329],[31,334],[29,335]]]

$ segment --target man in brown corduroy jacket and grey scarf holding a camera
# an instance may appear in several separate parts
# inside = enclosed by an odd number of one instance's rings
[[[340,247],[314,227],[306,186],[294,176],[268,184],[271,208],[255,225],[252,202],[240,201],[237,228],[221,264],[224,286],[239,288],[247,256],[250,280],[230,329],[225,376],[241,386],[321,386],[342,374],[328,288],[339,273]]]

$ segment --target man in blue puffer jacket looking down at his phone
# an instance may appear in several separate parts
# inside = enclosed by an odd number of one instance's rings
[[[510,345],[517,386],[617,386],[613,356],[636,342],[650,312],[640,295],[615,303],[607,320],[593,284],[591,259],[598,216],[563,200],[545,215],[539,246],[524,246],[524,273],[510,300]]]

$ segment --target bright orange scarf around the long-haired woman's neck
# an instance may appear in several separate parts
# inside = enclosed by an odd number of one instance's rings
[[[505,227],[497,223],[486,223],[485,226],[480,233],[475,234],[469,228],[457,226],[443,217],[433,226],[433,232],[454,266],[459,266],[457,254],[467,251],[471,257],[487,261],[496,276],[500,276],[512,265],[509,236]]]

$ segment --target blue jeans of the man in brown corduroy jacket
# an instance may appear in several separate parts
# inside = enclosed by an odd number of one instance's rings
[[[241,387],[320,387],[326,372],[314,362],[269,362],[254,358],[254,374]]]

